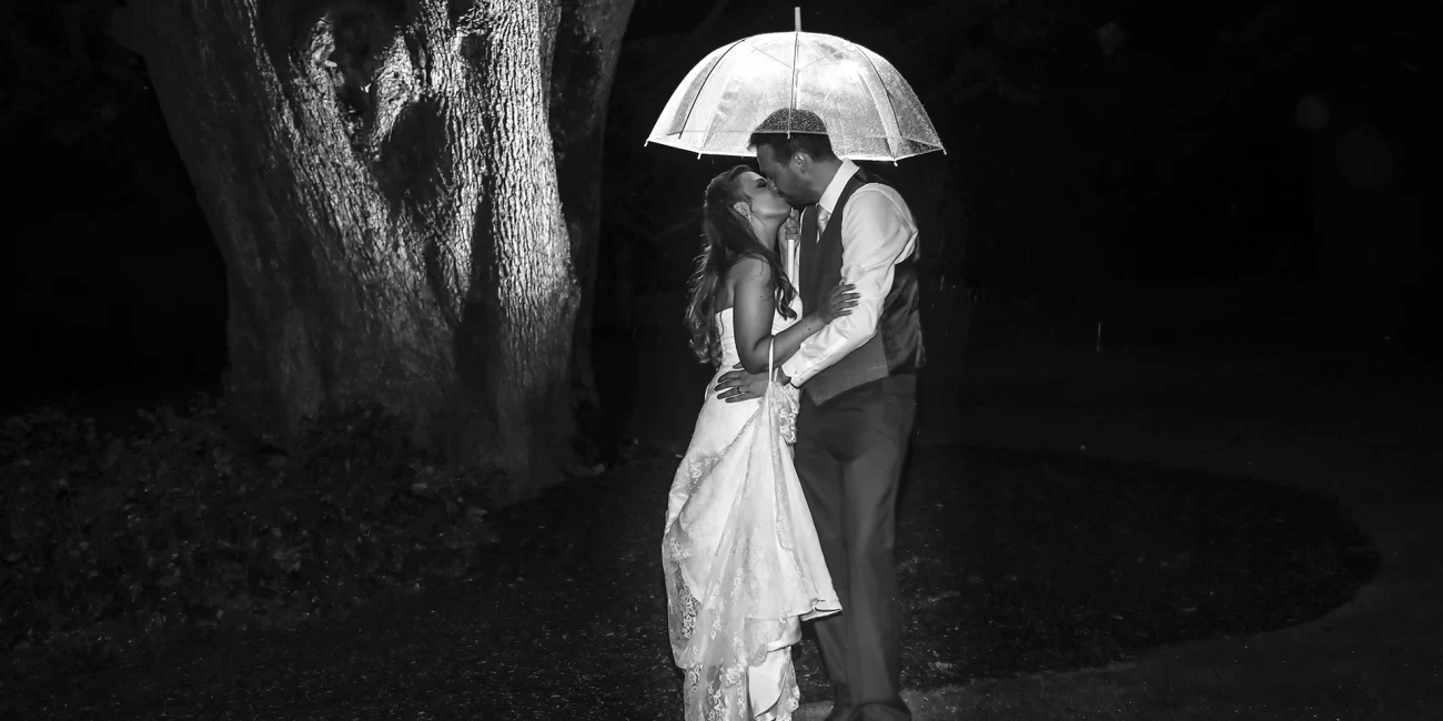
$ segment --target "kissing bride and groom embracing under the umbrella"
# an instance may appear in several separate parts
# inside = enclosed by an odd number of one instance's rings
[[[893,541],[925,359],[918,229],[823,118],[784,108],[758,127],[798,120],[821,133],[753,133],[760,172],[716,176],[703,205],[685,320],[717,372],[661,548],[687,721],[789,720],[801,622],[827,721],[912,718]]]

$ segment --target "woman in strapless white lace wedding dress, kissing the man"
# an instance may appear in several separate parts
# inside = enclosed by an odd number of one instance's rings
[[[795,322],[778,236],[791,206],[746,166],[711,179],[706,247],[691,278],[691,349],[717,375],[781,365],[856,306],[838,286]],[[799,622],[841,606],[792,466],[797,389],[724,401],[709,384],[667,500],[661,555],[671,652],[685,672],[687,721],[785,721],[799,702],[791,646]]]

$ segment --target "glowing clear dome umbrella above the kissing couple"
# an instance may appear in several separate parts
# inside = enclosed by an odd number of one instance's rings
[[[807,123],[810,111],[821,118]],[[880,55],[833,35],[755,35],[717,48],[671,94],[646,143],[697,154],[752,156],[747,138],[827,133],[838,157],[900,160],[942,150],[942,141],[902,74]]]

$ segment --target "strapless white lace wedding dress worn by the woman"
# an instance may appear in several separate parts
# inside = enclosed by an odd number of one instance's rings
[[[732,311],[717,314],[722,365],[737,363]],[[772,332],[789,323],[773,317]],[[786,721],[801,694],[799,622],[841,604],[792,466],[797,389],[729,404],[707,384],[671,483],[661,544],[671,653],[687,721]]]

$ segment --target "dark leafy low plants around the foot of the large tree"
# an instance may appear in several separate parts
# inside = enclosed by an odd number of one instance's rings
[[[104,662],[211,627],[268,629],[473,567],[494,535],[481,472],[416,451],[380,408],[300,441],[245,438],[205,398],[123,435],[55,408],[0,435],[0,643]]]

